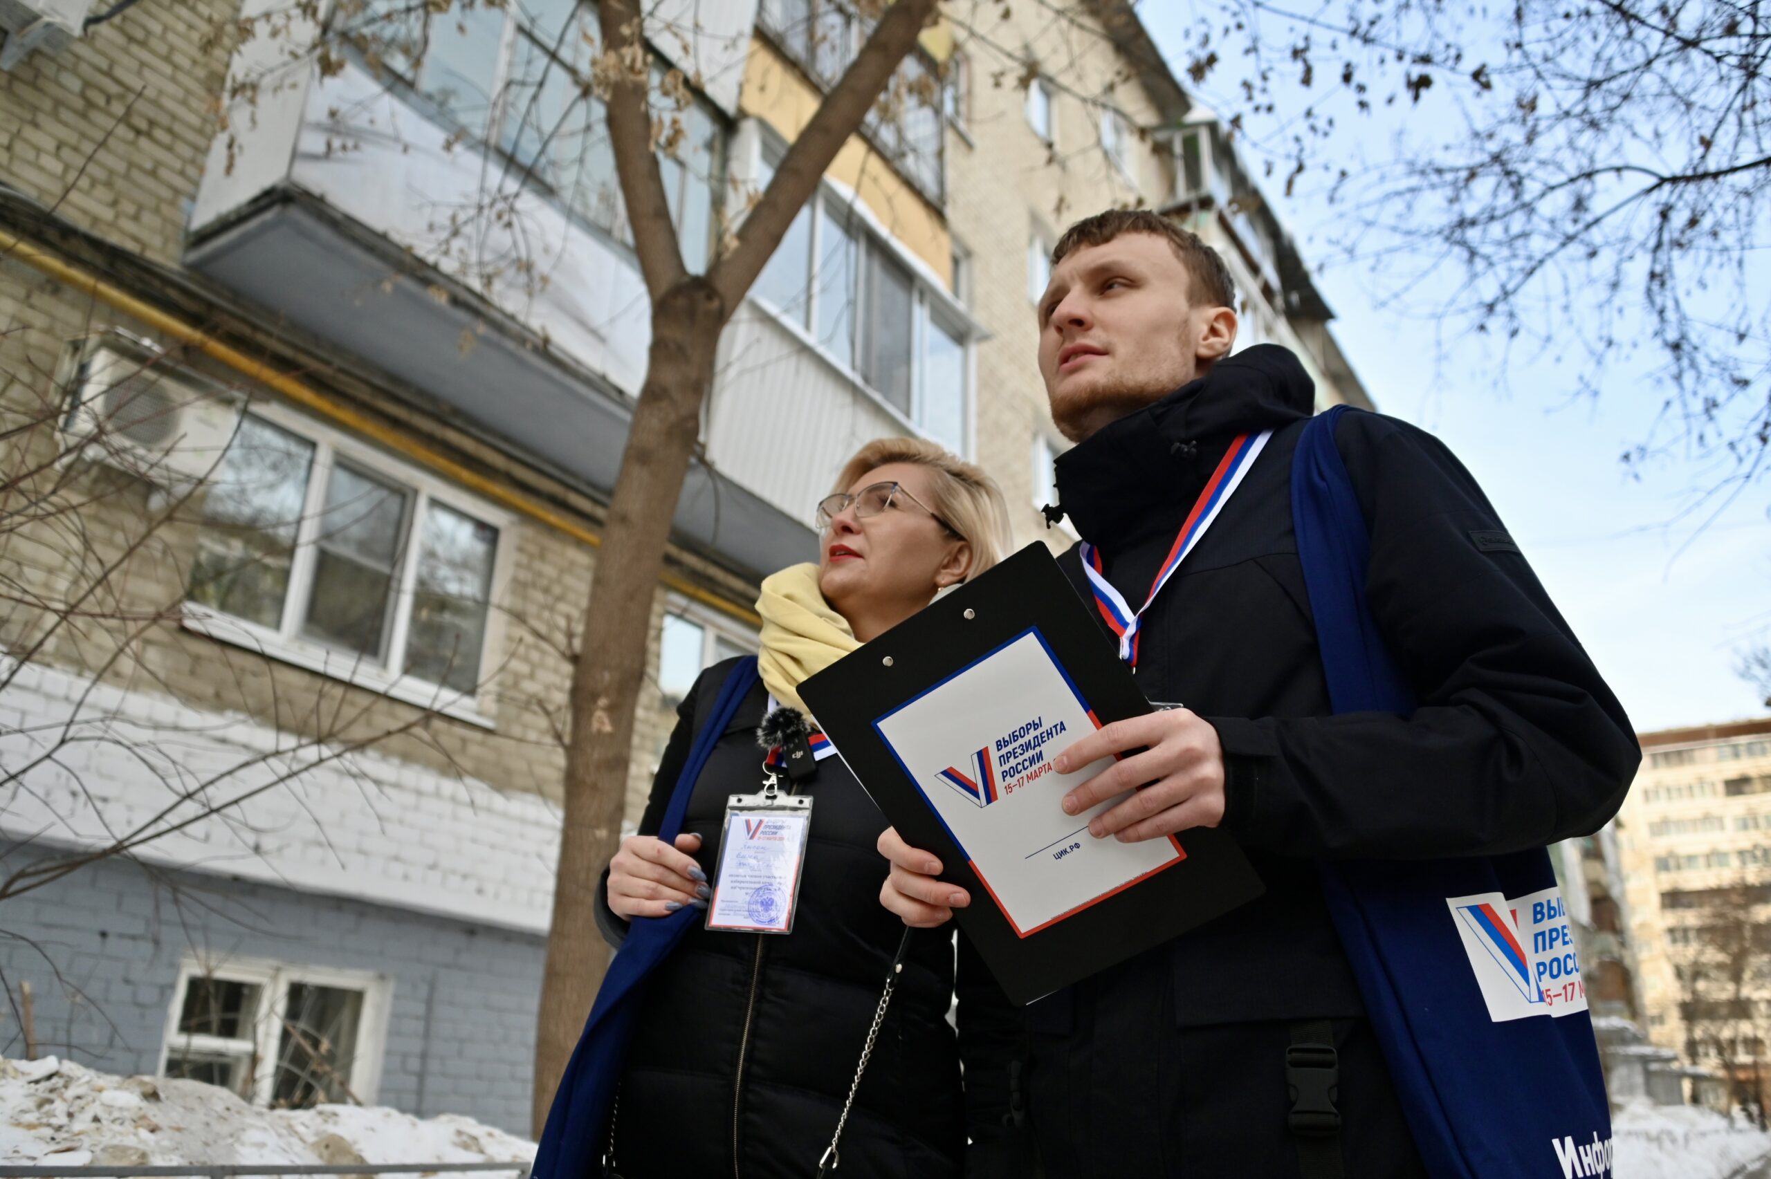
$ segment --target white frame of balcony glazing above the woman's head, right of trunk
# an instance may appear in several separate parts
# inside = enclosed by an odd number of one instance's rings
[[[774,136],[763,136],[767,143],[758,143],[758,150],[785,150],[785,147]],[[866,276],[868,276],[868,251],[880,251],[891,257],[894,262],[903,266],[910,273],[910,405],[909,409],[900,409],[893,405],[886,395],[868,384],[866,377],[855,368],[854,352],[850,356],[838,356],[831,352],[818,340],[818,262],[824,257],[824,218],[843,221],[850,234],[855,235],[859,244],[857,262],[855,262],[855,290],[850,292],[854,301],[854,329],[861,331],[861,320],[866,315]],[[783,328],[792,331],[799,342],[818,356],[824,363],[838,372],[838,375],[852,384],[862,397],[870,398],[882,411],[891,414],[893,421],[901,425],[905,432],[917,437],[933,439],[926,427],[928,411],[928,335],[930,319],[946,320],[947,328],[958,328],[960,345],[965,351],[963,356],[963,381],[965,388],[960,391],[962,407],[960,414],[963,420],[963,434],[956,453],[971,457],[976,448],[976,428],[974,420],[978,412],[978,395],[976,395],[976,368],[978,368],[978,343],[986,336],[985,329],[972,319],[967,306],[947,289],[947,281],[909,250],[900,244],[900,241],[891,234],[891,230],[880,223],[871,209],[850,189],[841,186],[838,181],[825,179],[818,184],[818,189],[806,202],[806,216],[809,218],[808,234],[808,258],[806,258],[806,299],[802,304],[802,313],[793,315],[792,312],[776,306],[772,299],[763,296],[751,287],[747,297],[769,312]],[[967,253],[967,257],[971,257]],[[946,444],[946,443],[942,443]]]

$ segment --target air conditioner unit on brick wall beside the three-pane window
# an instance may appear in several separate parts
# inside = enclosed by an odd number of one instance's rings
[[[239,405],[202,377],[110,343],[81,359],[69,402],[80,457],[161,487],[209,478],[239,425]]]

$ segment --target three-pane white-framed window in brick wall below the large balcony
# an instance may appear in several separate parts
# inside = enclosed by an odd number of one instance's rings
[[[255,407],[204,492],[186,621],[420,703],[464,701],[485,666],[494,519],[368,448]]]

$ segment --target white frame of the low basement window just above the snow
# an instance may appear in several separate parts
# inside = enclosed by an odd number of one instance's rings
[[[306,967],[283,963],[271,958],[218,958],[204,961],[195,954],[186,954],[179,961],[179,975],[172,988],[172,1002],[166,1007],[165,1034],[159,1037],[159,1064],[156,1076],[166,1075],[166,1060],[174,1048],[184,1052],[239,1052],[244,1039],[225,1039],[218,1036],[198,1036],[179,1032],[179,1016],[184,1013],[184,995],[191,979],[221,979],[227,982],[248,982],[259,988],[259,1009],[251,1018],[253,1052],[251,1105],[267,1106],[276,1083],[276,1048],[283,1032],[276,1013],[289,1004],[290,984],[329,986],[363,993],[363,1009],[356,1027],[356,1052],[351,1059],[351,1076],[345,1082],[351,1092],[363,1105],[375,1105],[381,1089],[383,1059],[388,1048],[388,1011],[393,998],[393,979],[384,974],[367,970],[338,970],[333,967]]]

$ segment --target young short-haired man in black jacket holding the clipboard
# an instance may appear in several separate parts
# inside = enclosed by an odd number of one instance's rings
[[[1629,720],[1470,474],[1376,414],[1346,414],[1335,441],[1371,529],[1369,605],[1420,708],[1330,715],[1291,529],[1298,430],[1286,427],[1314,411],[1309,375],[1279,347],[1229,356],[1224,262],[1156,214],[1087,218],[1052,264],[1040,372],[1077,443],[1057,460],[1059,501],[1132,611],[1231,441],[1275,432],[1142,613],[1139,685],[1185,706],[1063,751],[1059,772],[1148,752],[1061,804],[1080,813],[1142,786],[1091,834],[1224,827],[1266,892],[1025,1013],[962,986],[972,1137],[988,1147],[999,1126],[1025,1128],[1048,1175],[1298,1175],[1286,1050],[1296,1025],[1328,1020],[1344,1174],[1424,1175],[1312,860],[1488,855],[1590,832],[1640,759]],[[1080,552],[1059,563],[1093,602]],[[880,852],[893,864],[880,899],[907,924],[939,926],[972,901],[894,830]]]

